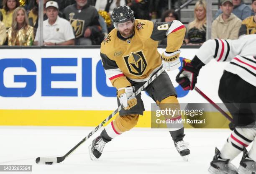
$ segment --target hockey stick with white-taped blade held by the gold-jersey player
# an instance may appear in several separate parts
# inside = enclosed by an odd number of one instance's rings
[[[136,97],[138,94],[141,93],[142,90],[144,90],[148,84],[150,84],[156,77],[158,77],[162,72],[164,72],[164,69],[160,69],[156,74],[154,74],[145,84],[143,84],[136,92],[133,93],[131,97]],[[84,143],[88,138],[90,138],[97,130],[99,130],[105,123],[108,122],[116,113],[118,113],[122,109],[122,105],[120,105],[115,111],[113,111],[112,114],[108,116],[105,120],[103,120],[92,132],[90,132],[84,139],[82,139],[76,146],[74,146],[67,154],[60,157],[52,157],[52,158],[42,158],[38,157],[36,158],[37,164],[56,164],[64,161],[70,154],[74,152],[82,143]]]

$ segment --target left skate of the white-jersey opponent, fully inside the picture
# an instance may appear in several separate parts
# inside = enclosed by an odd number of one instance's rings
[[[210,174],[236,174],[236,166],[230,163],[229,159],[221,159],[220,151],[215,148],[215,155],[208,169]]]

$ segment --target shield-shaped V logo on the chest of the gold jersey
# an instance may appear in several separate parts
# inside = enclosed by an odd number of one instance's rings
[[[123,58],[131,74],[140,76],[143,74],[147,67],[147,61],[144,57],[142,50],[135,53],[131,53],[130,55],[124,56]]]

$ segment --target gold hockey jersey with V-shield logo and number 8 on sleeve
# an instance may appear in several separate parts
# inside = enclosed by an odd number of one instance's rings
[[[178,20],[171,23],[135,20],[134,33],[123,38],[113,29],[102,41],[100,56],[107,77],[117,89],[131,86],[127,80],[145,82],[161,68],[158,42],[167,37],[167,52],[177,51],[186,33]]]

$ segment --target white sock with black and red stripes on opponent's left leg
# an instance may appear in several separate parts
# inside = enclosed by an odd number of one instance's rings
[[[228,137],[227,142],[220,151],[222,159],[233,160],[238,154],[243,151],[254,139],[253,131],[248,128],[236,128]]]

